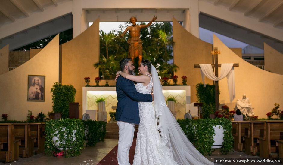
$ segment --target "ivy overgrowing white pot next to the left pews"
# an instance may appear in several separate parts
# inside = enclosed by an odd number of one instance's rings
[[[75,141],[73,134],[75,131]],[[59,119],[46,122],[45,124],[45,153],[53,155],[58,153],[58,148],[69,148],[66,150],[66,157],[78,156],[83,149],[84,127],[79,119]],[[53,137],[58,137],[56,142],[63,142],[58,148],[54,146]],[[71,148],[70,148],[71,147]]]

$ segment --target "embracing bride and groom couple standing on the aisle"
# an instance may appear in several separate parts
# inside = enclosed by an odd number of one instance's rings
[[[139,124],[133,165],[212,165],[191,144],[166,106],[157,70],[150,61],[142,60],[140,76],[134,75],[130,58],[122,59],[120,68],[115,117],[119,126],[118,164],[130,165],[129,150]]]

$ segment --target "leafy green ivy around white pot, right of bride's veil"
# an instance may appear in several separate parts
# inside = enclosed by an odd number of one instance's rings
[[[220,148],[220,152],[226,155],[233,147],[233,136],[232,136],[232,123],[226,118],[216,119],[183,119],[178,120],[178,123],[185,135],[196,146],[197,150],[203,155],[211,155],[214,140],[213,126],[221,125],[223,127],[223,143]]]

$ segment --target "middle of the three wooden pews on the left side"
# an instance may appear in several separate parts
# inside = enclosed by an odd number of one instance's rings
[[[14,123],[15,139],[21,140],[19,155],[23,158],[33,156],[35,137],[30,135],[30,123]]]

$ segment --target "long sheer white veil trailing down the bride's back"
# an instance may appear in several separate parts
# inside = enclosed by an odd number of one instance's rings
[[[188,140],[179,123],[166,105],[162,92],[162,86],[156,68],[151,65],[151,76],[153,79],[154,109],[160,131],[160,147],[168,147],[171,157],[179,165],[205,164],[212,165],[213,162],[205,158]]]

